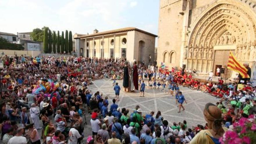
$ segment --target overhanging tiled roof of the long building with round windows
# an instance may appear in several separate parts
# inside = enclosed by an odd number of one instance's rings
[[[157,35],[154,35],[154,34],[149,33],[147,31],[143,31],[141,29],[137,29],[135,27],[126,27],[126,28],[122,28],[122,29],[115,29],[115,30],[111,30],[111,31],[103,31],[103,32],[99,32],[99,33],[83,35],[83,36],[77,37],[75,39],[93,37],[93,36],[98,36],[98,35],[106,35],[106,34],[111,34],[111,33],[120,33],[120,32],[126,32],[126,31],[138,31],[138,32],[141,32],[141,33],[145,33],[147,35],[151,35],[151,36],[157,37]]]

